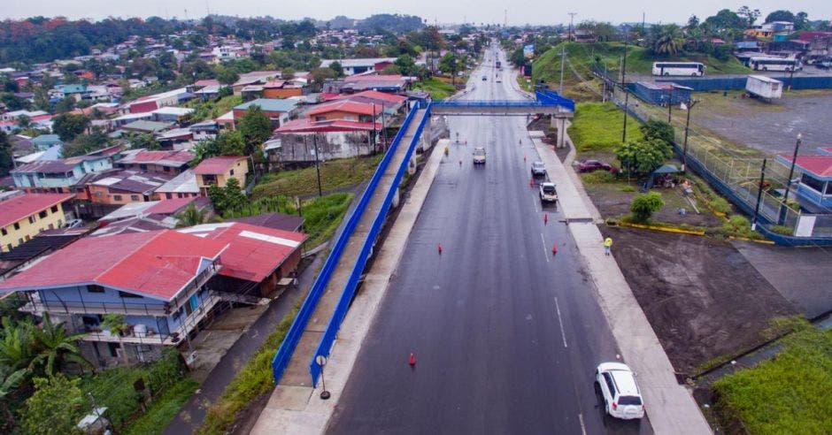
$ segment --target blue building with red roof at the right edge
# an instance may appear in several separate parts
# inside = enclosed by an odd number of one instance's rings
[[[797,202],[812,213],[829,213],[832,209],[832,147],[818,149],[813,156],[797,156],[795,172]],[[777,162],[790,167],[792,156],[777,156]],[[794,184],[793,184],[794,186]]]

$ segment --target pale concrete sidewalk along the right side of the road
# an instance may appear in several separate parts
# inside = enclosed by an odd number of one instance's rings
[[[711,427],[693,396],[676,382],[674,369],[659,339],[621,274],[614,256],[605,256],[603,237],[593,221],[600,218],[580,179],[567,169],[550,146],[535,141],[546,172],[558,186],[561,210],[575,244],[597,288],[598,304],[604,311],[621,357],[637,376],[647,415],[656,433],[711,433]],[[571,174],[570,174],[571,172]],[[582,195],[583,194],[583,195]],[[594,210],[594,213],[591,210]],[[615,245],[612,245],[614,252]]]

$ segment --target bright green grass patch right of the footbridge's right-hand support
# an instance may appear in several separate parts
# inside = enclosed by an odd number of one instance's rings
[[[627,139],[642,138],[636,118],[627,121]],[[621,143],[624,112],[613,103],[579,103],[567,133],[578,152],[609,151]]]

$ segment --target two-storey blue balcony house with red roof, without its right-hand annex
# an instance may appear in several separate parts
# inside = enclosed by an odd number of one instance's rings
[[[25,292],[24,310],[86,333],[91,361],[143,362],[186,340],[220,301],[206,283],[224,248],[173,230],[85,238],[0,282],[0,292]],[[104,326],[108,314],[123,317],[121,331]]]

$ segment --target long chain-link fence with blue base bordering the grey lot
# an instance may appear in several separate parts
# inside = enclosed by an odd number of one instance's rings
[[[627,106],[628,112],[642,122],[651,119],[661,121],[668,120],[666,106],[656,106],[636,98],[631,92],[616,86],[616,83],[603,72],[596,72],[596,75],[605,80],[607,94],[605,99],[610,99],[620,107]],[[694,113],[696,109],[693,109]],[[759,195],[759,179],[762,164],[765,156],[758,152],[749,152],[697,130],[696,126],[688,129],[687,146],[685,145],[685,121],[678,117],[684,113],[676,108],[677,117],[670,117],[674,126],[675,147],[683,160],[693,169],[700,172],[706,179],[713,181],[723,195],[727,195],[741,209],[750,215],[759,210],[761,223],[774,226],[778,225],[778,233],[789,233],[810,238],[832,238],[832,214],[805,214],[801,213],[797,202],[794,201],[796,186],[791,185],[790,198],[784,202],[786,188],[789,187],[789,168],[768,158],[763,192]],[[633,126],[634,128],[636,126]],[[753,154],[753,156],[750,156]]]

